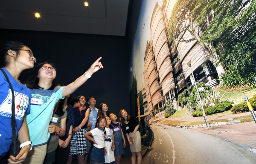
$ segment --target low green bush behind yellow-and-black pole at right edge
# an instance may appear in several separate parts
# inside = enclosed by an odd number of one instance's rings
[[[249,99],[250,101],[250,104],[252,105],[253,107],[253,110],[256,110],[256,95],[254,95],[251,99]],[[248,112],[250,111],[247,103],[245,101],[237,104],[237,105],[234,105],[232,108],[231,108],[231,111],[236,114],[236,113],[244,113],[244,112]]]

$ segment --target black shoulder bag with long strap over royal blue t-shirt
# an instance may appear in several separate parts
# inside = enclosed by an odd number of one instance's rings
[[[10,85],[10,88],[12,90],[12,144],[9,150],[9,155],[16,157],[20,153],[20,141],[16,137],[16,120],[15,120],[15,97],[14,97],[14,91],[12,88],[12,84],[6,74],[6,72],[0,68],[0,70],[3,72],[4,76],[6,77],[7,82]]]

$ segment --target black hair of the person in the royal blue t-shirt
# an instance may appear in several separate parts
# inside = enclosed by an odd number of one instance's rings
[[[8,50],[12,50],[16,52],[16,58],[20,55],[20,50],[23,47],[27,47],[26,45],[24,45],[21,42],[17,42],[17,41],[9,41],[9,42],[5,42],[3,43],[3,45],[0,48],[0,68],[5,67],[8,64],[8,61],[6,59],[7,55],[8,55]]]

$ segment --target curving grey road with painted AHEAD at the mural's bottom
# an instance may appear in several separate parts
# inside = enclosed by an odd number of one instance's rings
[[[256,164],[256,155],[221,138],[163,124],[142,164]]]

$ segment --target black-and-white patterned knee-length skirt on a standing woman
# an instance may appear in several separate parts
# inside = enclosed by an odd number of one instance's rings
[[[84,134],[87,129],[81,129],[77,133],[72,133],[70,139],[70,156],[85,155],[88,153],[87,139]]]

